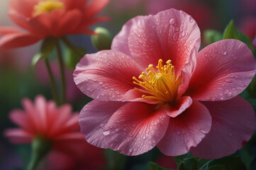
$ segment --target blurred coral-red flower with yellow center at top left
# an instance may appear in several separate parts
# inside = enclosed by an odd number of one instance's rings
[[[11,49],[31,45],[48,36],[60,37],[67,34],[93,34],[89,26],[106,17],[96,14],[106,6],[108,0],[11,0],[9,17],[19,27],[0,28],[0,47]]]

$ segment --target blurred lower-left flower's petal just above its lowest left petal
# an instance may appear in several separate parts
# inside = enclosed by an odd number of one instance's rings
[[[33,125],[30,123],[30,118],[28,117],[28,114],[26,114],[21,109],[16,109],[11,111],[9,114],[9,117],[13,123],[20,126],[21,128],[27,130],[28,132],[33,132]]]

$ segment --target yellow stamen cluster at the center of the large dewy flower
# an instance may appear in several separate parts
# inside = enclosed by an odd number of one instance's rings
[[[156,69],[152,64],[148,66],[146,72],[142,72],[138,77],[133,77],[133,84],[141,86],[143,89],[134,88],[143,92],[143,98],[152,98],[164,102],[172,102],[177,98],[178,87],[182,84],[179,77],[175,78],[174,66],[171,60],[162,65],[162,60],[158,61]]]

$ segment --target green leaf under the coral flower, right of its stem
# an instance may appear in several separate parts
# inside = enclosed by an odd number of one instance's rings
[[[79,51],[82,52],[82,54],[86,54],[86,51],[83,47],[77,47],[79,48]],[[64,62],[67,68],[74,70],[79,60],[81,60],[84,55],[77,54],[77,52],[74,52],[74,50],[70,48],[65,48],[64,52]]]

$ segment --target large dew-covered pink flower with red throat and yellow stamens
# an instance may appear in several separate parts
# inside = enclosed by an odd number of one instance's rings
[[[74,81],[95,98],[79,115],[87,142],[126,155],[157,146],[205,159],[243,147],[255,128],[252,107],[238,96],[255,74],[252,52],[239,40],[199,47],[194,19],[169,9],[131,19],[112,50],[85,55]]]

